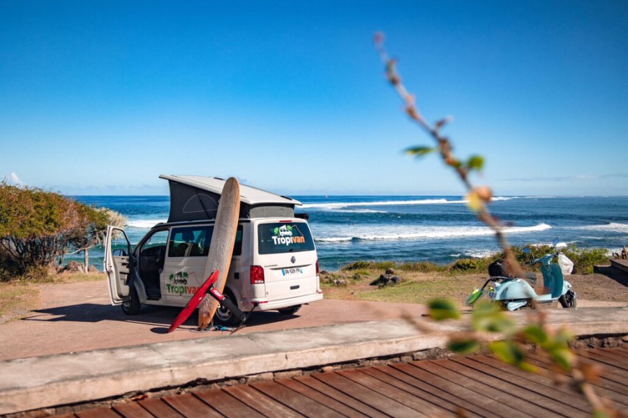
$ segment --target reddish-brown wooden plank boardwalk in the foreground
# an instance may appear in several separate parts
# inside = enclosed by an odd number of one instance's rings
[[[578,355],[604,366],[595,387],[628,413],[628,348]],[[532,355],[532,363],[549,369]],[[513,396],[514,395],[514,396]],[[345,369],[84,410],[63,417],[590,417],[574,389],[474,355]]]

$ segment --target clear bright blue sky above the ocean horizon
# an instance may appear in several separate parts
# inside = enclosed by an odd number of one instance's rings
[[[626,1],[2,1],[0,178],[167,194],[160,173],[281,194],[462,194],[373,34],[474,183],[628,194]]]

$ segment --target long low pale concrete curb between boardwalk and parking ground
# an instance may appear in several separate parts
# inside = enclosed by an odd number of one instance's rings
[[[525,320],[525,312],[514,314]],[[461,323],[405,320],[254,332],[0,362],[0,414],[444,347]],[[548,310],[576,335],[628,334],[628,308]]]

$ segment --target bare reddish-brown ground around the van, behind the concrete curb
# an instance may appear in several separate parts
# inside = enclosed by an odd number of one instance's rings
[[[567,278],[578,294],[578,307],[628,306],[628,274],[604,273]],[[472,281],[481,286],[485,279],[478,275]],[[417,303],[334,299],[342,295],[329,286],[325,289],[324,300],[304,306],[295,315],[255,313],[239,333],[394,319],[403,314],[421,316],[427,312]],[[463,294],[468,295],[468,289],[461,291]],[[167,334],[167,327],[179,311],[143,306],[139,315],[126,316],[120,307],[110,305],[105,280],[43,284],[38,308],[21,319],[0,324],[0,360],[227,334],[193,332],[195,315]]]

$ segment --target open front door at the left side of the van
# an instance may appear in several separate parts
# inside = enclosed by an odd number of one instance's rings
[[[114,238],[124,236],[124,243],[114,243]],[[107,238],[105,239],[105,265],[104,270],[109,282],[109,296],[111,304],[121,304],[129,300],[128,274],[129,256],[131,245],[124,230],[115,226],[107,226]]]

